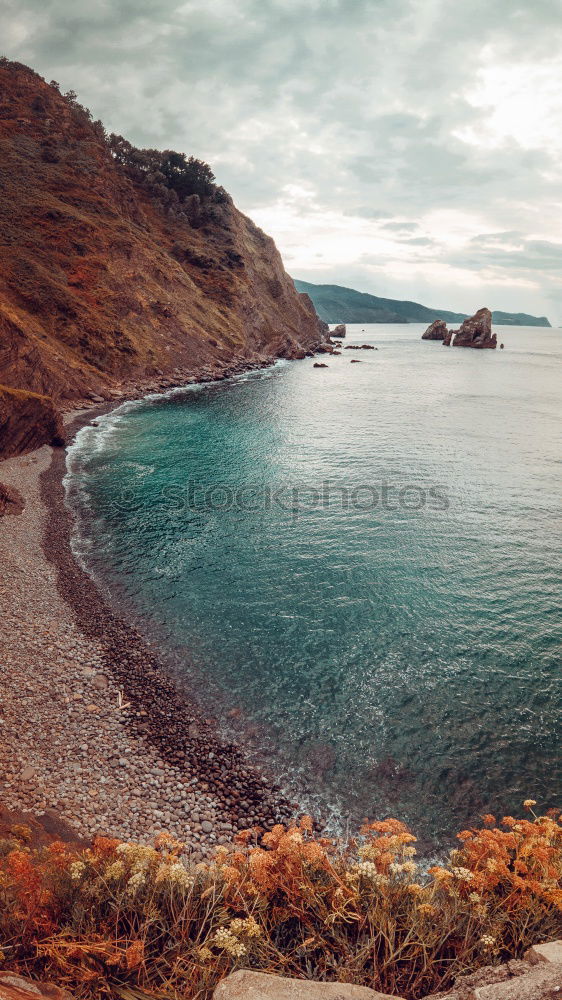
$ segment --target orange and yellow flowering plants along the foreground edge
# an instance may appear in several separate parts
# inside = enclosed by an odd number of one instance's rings
[[[0,844],[3,961],[76,996],[203,998],[249,967],[416,1000],[560,936],[560,816],[531,816],[485,816],[429,872],[394,819],[342,844],[305,816],[195,866],[167,834],[154,847],[98,837],[77,855],[30,852],[20,831]]]

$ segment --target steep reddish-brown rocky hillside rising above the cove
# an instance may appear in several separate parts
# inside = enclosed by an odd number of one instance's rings
[[[303,356],[325,337],[273,241],[230,198],[203,201],[193,224],[164,209],[115,161],[101,123],[7,60],[0,191],[0,384],[11,389],[64,404],[127,380]],[[26,414],[14,409],[10,426]],[[0,455],[36,431],[0,438]]]

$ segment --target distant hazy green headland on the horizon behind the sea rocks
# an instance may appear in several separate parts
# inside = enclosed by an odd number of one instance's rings
[[[430,309],[419,302],[382,299],[341,285],[312,285],[295,280],[295,288],[310,296],[318,315],[327,323],[432,323],[435,319],[462,323],[468,318],[466,313]],[[496,311],[492,319],[506,326],[550,326],[546,316],[527,313]]]

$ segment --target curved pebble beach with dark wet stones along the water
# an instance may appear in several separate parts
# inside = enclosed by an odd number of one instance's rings
[[[122,403],[181,387],[136,383],[125,398],[74,407],[68,444]],[[196,693],[78,564],[66,471],[66,449],[47,445],[0,465],[25,499],[21,514],[0,518],[0,800],[61,817],[84,838],[146,842],[167,829],[195,860],[239,829],[288,820],[295,803],[221,739]]]

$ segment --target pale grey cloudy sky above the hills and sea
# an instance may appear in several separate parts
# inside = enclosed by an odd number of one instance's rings
[[[294,277],[562,324],[560,0],[0,0],[0,46],[208,160]]]

